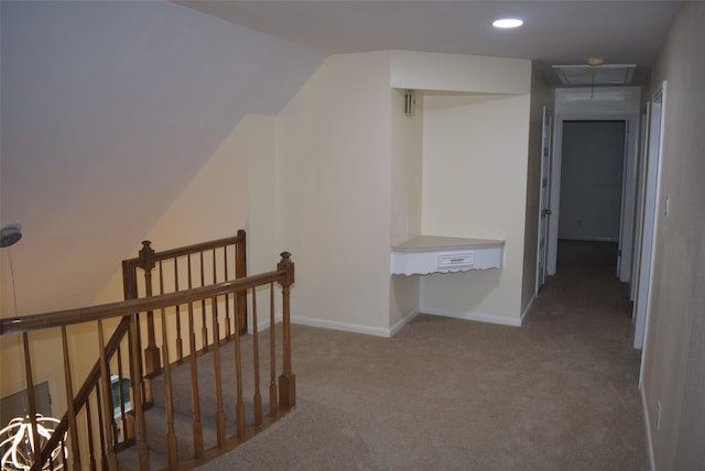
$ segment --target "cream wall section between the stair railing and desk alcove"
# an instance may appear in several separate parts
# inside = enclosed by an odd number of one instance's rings
[[[329,57],[278,119],[281,241],[296,321],[389,328],[389,53]]]

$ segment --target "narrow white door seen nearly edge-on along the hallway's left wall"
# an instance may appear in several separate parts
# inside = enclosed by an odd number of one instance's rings
[[[536,292],[546,281],[546,238],[549,234],[549,216],[551,207],[549,204],[549,188],[551,175],[551,111],[543,107],[543,133],[541,136],[541,194],[539,196],[539,250],[536,263]]]

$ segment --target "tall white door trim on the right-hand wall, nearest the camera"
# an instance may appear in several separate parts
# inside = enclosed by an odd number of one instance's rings
[[[634,299],[634,348],[646,344],[646,326],[651,302],[651,280],[653,275],[653,249],[655,227],[659,219],[658,197],[661,168],[662,114],[665,105],[665,81],[653,94],[649,118],[649,142],[647,154],[647,180],[643,195],[643,226],[641,250],[639,251],[639,273]],[[643,354],[643,352],[642,352]]]

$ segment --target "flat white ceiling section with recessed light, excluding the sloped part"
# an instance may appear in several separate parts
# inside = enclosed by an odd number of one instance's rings
[[[411,50],[536,61],[552,84],[554,64],[650,64],[680,1],[178,1],[207,14],[325,54]],[[524,25],[500,31],[492,20]]]

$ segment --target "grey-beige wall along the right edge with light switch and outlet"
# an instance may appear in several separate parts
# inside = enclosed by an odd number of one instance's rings
[[[655,469],[705,469],[705,3],[685,2],[657,57],[663,109],[654,278],[643,394]],[[669,217],[664,199],[670,195]],[[655,426],[661,404],[661,428]]]

